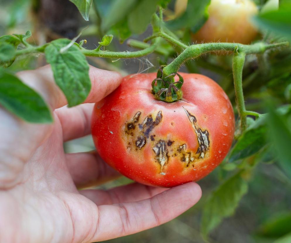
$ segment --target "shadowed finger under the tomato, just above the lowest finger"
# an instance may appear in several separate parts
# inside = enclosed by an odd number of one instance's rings
[[[81,190],[80,193],[92,200],[97,206],[105,204],[136,202],[151,198],[169,188],[153,187],[131,183],[109,190]]]

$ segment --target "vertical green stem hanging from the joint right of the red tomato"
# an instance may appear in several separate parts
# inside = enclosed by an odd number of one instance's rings
[[[247,128],[247,115],[246,107],[244,105],[244,94],[242,91],[242,70],[246,53],[235,52],[232,58],[232,74],[234,82],[235,99],[237,103],[237,111],[240,117],[240,130],[241,133]]]

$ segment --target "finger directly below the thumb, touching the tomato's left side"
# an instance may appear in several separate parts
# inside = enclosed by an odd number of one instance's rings
[[[67,106],[55,110],[63,130],[64,141],[80,138],[91,133],[91,116],[94,104]]]

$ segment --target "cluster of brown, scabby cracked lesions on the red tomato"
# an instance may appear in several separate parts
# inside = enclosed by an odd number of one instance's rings
[[[198,148],[196,151],[189,150],[186,143],[181,143],[174,139],[161,139],[153,134],[153,130],[162,121],[162,112],[159,111],[155,118],[153,114],[146,116],[142,122],[141,112],[138,111],[125,123],[124,139],[126,141],[126,149],[128,152],[140,151],[145,144],[150,143],[153,151],[153,158],[160,165],[160,173],[163,173],[165,166],[172,159],[179,159],[187,167],[194,167],[194,164],[207,156],[209,151],[209,133],[207,130],[201,129],[197,124],[197,119],[184,107],[187,117],[197,135]],[[172,122],[171,122],[171,125]]]

